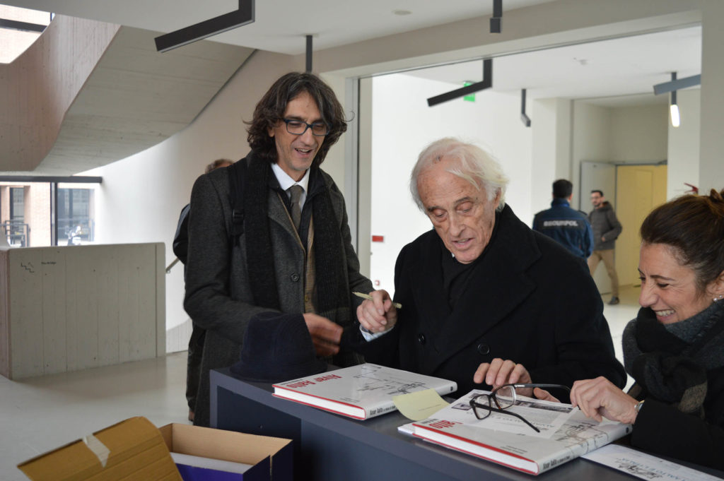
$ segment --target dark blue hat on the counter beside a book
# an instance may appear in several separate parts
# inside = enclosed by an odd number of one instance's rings
[[[282,312],[262,312],[249,320],[240,359],[231,367],[237,377],[255,383],[280,383],[326,370],[304,316]]]

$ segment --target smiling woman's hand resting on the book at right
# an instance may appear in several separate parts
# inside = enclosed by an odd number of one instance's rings
[[[598,422],[601,422],[602,417],[626,424],[636,421],[638,401],[603,376],[573,383],[571,404],[578,406],[586,417],[592,417]]]

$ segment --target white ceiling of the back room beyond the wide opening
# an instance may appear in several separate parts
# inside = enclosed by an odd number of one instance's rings
[[[702,28],[689,27],[551,48],[493,60],[493,90],[527,98],[590,98],[604,105],[665,103],[653,85],[702,72]],[[482,61],[432,67],[411,75],[444,82],[482,80]]]

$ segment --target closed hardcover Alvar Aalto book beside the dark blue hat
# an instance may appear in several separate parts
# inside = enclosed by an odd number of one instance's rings
[[[274,384],[274,396],[366,420],[395,411],[393,396],[425,389],[442,396],[457,388],[455,381],[366,363]]]

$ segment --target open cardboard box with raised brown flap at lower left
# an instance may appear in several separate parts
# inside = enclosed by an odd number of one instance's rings
[[[180,466],[170,451],[249,464],[243,474]],[[33,481],[291,481],[292,441],[132,417],[18,465]]]

